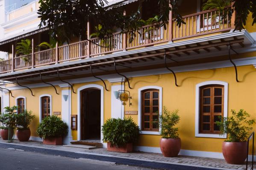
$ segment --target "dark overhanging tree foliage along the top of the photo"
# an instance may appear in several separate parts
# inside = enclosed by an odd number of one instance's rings
[[[150,3],[150,0],[147,1]],[[169,20],[171,11],[177,26],[185,24],[179,14],[179,1],[158,0],[161,10],[157,14],[159,16],[157,23],[162,22],[161,25],[166,28],[165,23]],[[234,8],[232,12],[236,13],[235,30],[244,29],[250,12],[253,17],[252,24],[256,23],[256,0],[209,0],[209,4],[213,3],[217,6],[208,6],[207,8],[219,8],[231,2],[233,2]],[[139,10],[141,7],[124,16],[124,6],[119,4],[112,6],[112,9],[109,10],[106,6],[107,0],[39,0],[39,3],[41,4],[38,10],[39,18],[41,18],[40,27],[47,26],[51,37],[59,42],[69,41],[72,37],[86,40],[87,21],[90,18],[95,20],[96,26],[102,26],[97,30],[98,37],[108,36],[113,32],[113,28],[120,28],[123,33],[129,32],[135,36],[135,31],[143,26]],[[190,2],[187,1],[187,3]]]

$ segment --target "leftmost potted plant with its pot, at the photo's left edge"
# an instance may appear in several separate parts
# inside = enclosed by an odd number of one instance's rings
[[[0,134],[3,140],[12,139],[14,135],[14,129],[16,127],[16,110],[17,106],[5,107],[5,113],[0,115],[0,122],[3,123],[3,126],[0,127]]]

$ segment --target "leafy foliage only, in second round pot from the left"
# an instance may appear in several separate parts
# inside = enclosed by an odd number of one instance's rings
[[[24,112],[17,115],[17,127],[19,130],[29,129],[30,122],[35,119],[32,111],[24,110]]]

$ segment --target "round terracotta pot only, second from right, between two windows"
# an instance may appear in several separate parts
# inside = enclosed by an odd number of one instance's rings
[[[177,157],[181,148],[180,138],[160,139],[160,149],[165,157]]]

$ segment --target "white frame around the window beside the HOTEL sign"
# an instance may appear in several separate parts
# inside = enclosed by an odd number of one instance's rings
[[[157,89],[159,90],[159,115],[162,115],[162,101],[163,101],[163,98],[162,98],[162,87],[159,87],[159,86],[144,86],[142,88],[139,88],[138,89],[138,127],[141,129],[142,127],[142,124],[141,124],[141,99],[142,99],[142,96],[141,96],[141,91],[144,91],[144,90],[147,90],[147,89]],[[141,134],[148,134],[148,135],[160,135],[160,130],[161,128],[159,127],[159,131],[156,132],[156,131],[141,131],[140,133]]]

